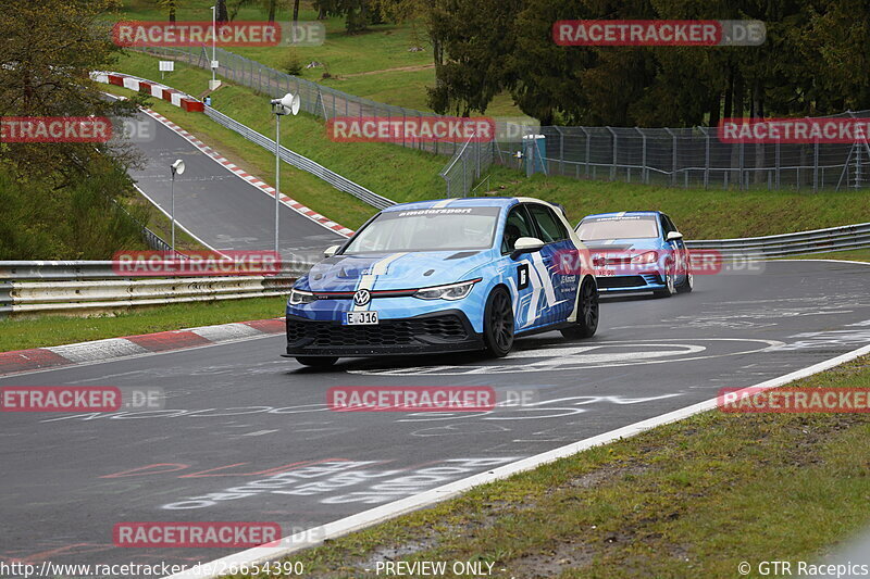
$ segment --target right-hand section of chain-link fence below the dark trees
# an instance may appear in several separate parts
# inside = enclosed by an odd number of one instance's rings
[[[845,113],[867,117],[868,111]],[[870,147],[816,142],[728,143],[717,129],[539,127],[544,172],[577,179],[607,179],[672,187],[738,189],[861,188],[870,176]],[[499,143],[505,154],[520,142]],[[526,159],[527,161],[527,159]]]

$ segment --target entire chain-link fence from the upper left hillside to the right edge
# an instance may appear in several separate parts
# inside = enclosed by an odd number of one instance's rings
[[[203,47],[147,48],[142,52],[202,68],[211,53]],[[304,80],[227,50],[217,49],[216,73],[270,95],[298,93],[303,111],[324,119],[381,116],[398,119],[433,116],[378,103]],[[835,117],[870,117],[870,111]],[[490,142],[427,142],[405,147],[451,155],[440,172],[449,197],[467,196],[494,163],[576,179],[606,179],[671,187],[812,190],[862,188],[870,181],[870,147],[856,143],[726,143],[717,129],[624,127],[519,127],[496,122]],[[511,137],[505,137],[510,135]],[[529,139],[534,138],[530,148]],[[521,153],[521,154],[518,154]]]

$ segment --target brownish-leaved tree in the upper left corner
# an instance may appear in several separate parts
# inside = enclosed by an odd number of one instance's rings
[[[0,116],[130,116],[146,100],[105,99],[91,71],[111,70],[121,50],[105,13],[115,0],[8,0],[0,11]],[[46,175],[57,187],[87,179],[109,159],[126,168],[137,159],[109,143],[4,143],[0,168],[27,179]]]

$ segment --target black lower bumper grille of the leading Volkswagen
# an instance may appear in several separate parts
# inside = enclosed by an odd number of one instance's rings
[[[287,343],[308,348],[411,345],[461,342],[469,338],[458,315],[382,319],[374,326],[287,320]]]

